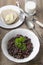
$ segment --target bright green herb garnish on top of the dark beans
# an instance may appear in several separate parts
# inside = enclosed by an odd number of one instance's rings
[[[16,38],[16,39],[14,40],[14,43],[15,43],[15,45],[16,45],[19,49],[21,49],[21,50],[24,51],[24,50],[27,49],[26,44],[24,43],[24,41],[25,41],[25,37],[21,36],[20,38]]]

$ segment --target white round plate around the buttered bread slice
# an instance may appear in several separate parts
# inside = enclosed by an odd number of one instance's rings
[[[19,14],[19,20],[14,24],[7,25],[4,22],[4,20],[2,18],[0,18],[0,27],[11,29],[11,28],[16,28],[16,27],[20,26],[23,23],[24,18],[25,18],[23,10],[14,5],[7,5],[7,6],[3,6],[0,8],[0,14],[2,11],[6,10],[6,9],[12,9],[12,10],[16,11]],[[20,15],[20,10],[23,12],[23,14],[21,14],[21,15]]]

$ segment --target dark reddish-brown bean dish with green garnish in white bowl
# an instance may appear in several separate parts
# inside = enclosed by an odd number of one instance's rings
[[[33,45],[30,38],[17,34],[8,41],[7,50],[14,58],[23,59],[31,54]]]

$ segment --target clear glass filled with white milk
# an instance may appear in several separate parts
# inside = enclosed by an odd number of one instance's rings
[[[25,12],[29,15],[36,13],[36,2],[34,0],[25,0]]]

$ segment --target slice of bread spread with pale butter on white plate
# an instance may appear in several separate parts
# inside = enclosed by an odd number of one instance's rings
[[[19,19],[18,13],[11,9],[2,11],[1,16],[6,24],[12,24]]]

